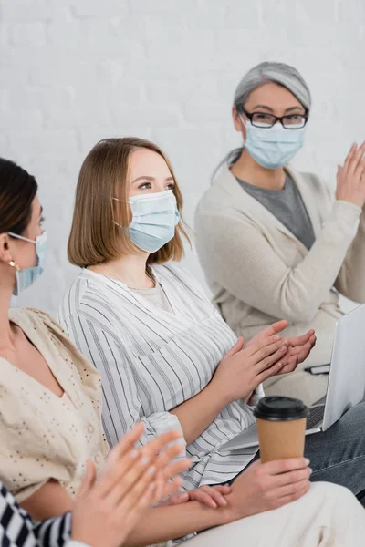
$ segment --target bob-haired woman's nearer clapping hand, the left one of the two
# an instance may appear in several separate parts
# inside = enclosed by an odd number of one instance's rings
[[[248,397],[267,378],[282,370],[287,347],[287,340],[277,335],[255,336],[245,348],[244,339],[238,338],[215,370],[212,385],[216,395],[223,397],[225,405]]]

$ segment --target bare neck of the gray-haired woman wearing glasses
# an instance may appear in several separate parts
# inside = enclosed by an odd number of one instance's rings
[[[241,156],[235,161],[231,171],[238,179],[266,190],[282,190],[285,186],[284,167],[277,169],[261,167],[245,149],[242,150]]]

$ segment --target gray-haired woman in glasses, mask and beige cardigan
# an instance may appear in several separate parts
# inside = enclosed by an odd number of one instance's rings
[[[354,144],[332,195],[318,176],[287,166],[303,146],[311,107],[294,67],[261,63],[235,91],[233,119],[243,146],[220,165],[196,212],[198,253],[224,319],[250,340],[277,318],[286,335],[313,328],[306,364],[271,377],[266,394],[313,403],[327,376],[339,294],[365,302],[365,143]]]

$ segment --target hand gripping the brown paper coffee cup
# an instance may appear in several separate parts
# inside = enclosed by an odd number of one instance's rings
[[[301,498],[309,490],[308,459],[255,461],[234,482],[226,497],[238,518],[277,509]]]

